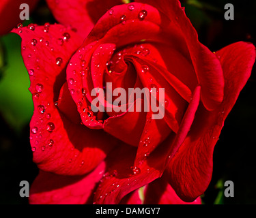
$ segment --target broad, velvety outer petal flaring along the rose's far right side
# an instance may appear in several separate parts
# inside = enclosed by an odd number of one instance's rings
[[[214,146],[227,114],[251,75],[255,47],[238,42],[221,49],[216,55],[221,60],[225,76],[223,103],[212,112],[199,106],[186,140],[167,168],[169,183],[184,201],[195,200],[210,183]]]

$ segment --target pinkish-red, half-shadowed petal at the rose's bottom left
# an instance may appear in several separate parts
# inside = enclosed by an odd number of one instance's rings
[[[51,172],[40,173],[30,190],[30,204],[92,204],[91,195],[104,172],[101,163],[85,176],[60,176]]]

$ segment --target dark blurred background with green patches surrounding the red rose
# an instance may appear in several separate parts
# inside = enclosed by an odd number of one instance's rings
[[[256,45],[256,1],[181,2],[197,29],[200,42],[210,50],[215,51],[238,41],[253,42]],[[234,20],[224,18],[226,3],[234,5]],[[55,20],[44,1],[40,1],[29,22],[43,25],[44,22],[53,23]],[[27,204],[27,198],[19,196],[19,183],[26,180],[31,184],[38,174],[29,144],[29,119],[33,112],[31,95],[27,91],[29,77],[20,55],[15,56],[19,52],[19,37],[13,33],[0,37],[0,204]],[[12,81],[11,89],[6,90],[5,87],[10,87],[8,74],[15,76],[16,70],[12,69],[12,63],[20,64],[19,76],[25,82],[20,84],[19,81]],[[256,203],[255,79],[254,67],[252,76],[227,117],[220,140],[215,146],[214,172],[212,181],[202,196],[204,204]],[[15,87],[14,84],[20,86]],[[8,94],[10,91],[14,94]],[[19,103],[20,98],[22,102]],[[223,196],[223,184],[227,180],[234,183],[234,198]]]

